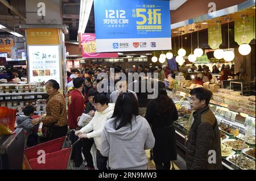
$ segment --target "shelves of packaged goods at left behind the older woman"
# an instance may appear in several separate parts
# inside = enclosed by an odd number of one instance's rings
[[[36,84],[0,84],[0,106],[16,109],[18,114],[23,114],[25,106],[32,105],[35,113],[42,115],[46,112],[46,99],[45,88]]]

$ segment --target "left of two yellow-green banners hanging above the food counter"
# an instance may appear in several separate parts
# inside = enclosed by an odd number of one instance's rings
[[[208,27],[208,45],[212,49],[217,49],[222,44],[221,26],[209,25]]]

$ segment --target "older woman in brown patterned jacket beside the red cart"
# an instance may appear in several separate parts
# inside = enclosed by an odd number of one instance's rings
[[[46,82],[46,91],[49,95],[46,105],[46,116],[32,120],[32,123],[43,122],[42,132],[47,141],[66,136],[68,119],[64,96],[59,92],[60,85],[51,79]]]

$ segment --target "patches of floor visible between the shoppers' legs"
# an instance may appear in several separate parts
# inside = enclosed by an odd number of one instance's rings
[[[95,144],[93,144],[93,146],[92,146],[92,150],[90,150],[90,153],[92,153],[92,156],[93,156],[93,163],[94,163],[94,167],[95,168],[97,168],[97,166],[96,166],[96,146],[95,146]],[[150,160],[150,150],[146,150],[146,156],[147,156],[147,166],[148,166],[148,170],[155,170],[155,163],[154,163],[154,161],[152,161],[152,160]],[[84,156],[82,155],[82,157],[84,158]],[[177,159],[177,161],[176,162],[174,162],[174,170],[180,170],[179,169],[179,167],[175,164],[175,163],[179,163],[179,165],[180,165],[180,163],[182,163],[183,161],[180,159],[181,157],[179,157],[179,155],[178,155],[178,157],[177,157],[178,159]],[[183,166],[183,165],[181,165],[181,166]],[[69,169],[72,169],[73,170],[73,161],[70,161],[70,163],[69,163]],[[171,167],[171,169],[172,169],[172,167]]]

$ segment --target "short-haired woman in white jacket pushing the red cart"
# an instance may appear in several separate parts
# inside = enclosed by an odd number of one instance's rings
[[[108,98],[104,94],[97,94],[94,96],[93,102],[94,108],[96,109],[93,119],[88,125],[80,129],[80,131],[76,131],[75,134],[80,138],[94,138],[94,142],[97,148],[97,167],[100,170],[106,170],[108,157],[104,157],[100,153],[101,132],[105,121],[112,117],[114,107],[108,105]]]

